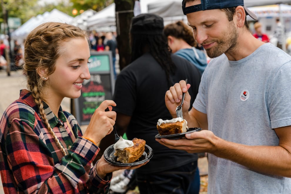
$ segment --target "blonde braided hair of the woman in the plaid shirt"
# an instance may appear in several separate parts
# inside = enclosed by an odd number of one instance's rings
[[[66,155],[65,148],[53,132],[44,112],[41,95],[44,94],[44,87],[48,85],[48,82],[39,76],[38,70],[45,70],[46,76],[51,75],[55,71],[57,58],[62,54],[60,46],[73,38],[88,39],[88,34],[73,25],[47,22],[31,31],[24,43],[23,68],[27,78],[27,88],[31,91],[34,101],[39,107],[39,113],[45,126],[64,155]]]

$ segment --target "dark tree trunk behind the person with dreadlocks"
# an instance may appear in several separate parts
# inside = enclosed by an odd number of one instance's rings
[[[129,30],[133,15],[134,0],[114,0],[116,11],[117,48],[119,68],[122,70],[131,61]]]

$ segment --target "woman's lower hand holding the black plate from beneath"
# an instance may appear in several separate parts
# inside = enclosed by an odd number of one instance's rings
[[[148,162],[149,160],[146,161],[145,163],[142,163],[140,165],[135,165],[135,166],[117,166],[117,165],[108,163],[104,159],[104,155],[102,155],[101,159],[96,164],[96,172],[100,178],[104,179],[106,174],[112,173],[113,171],[122,170],[122,169],[136,169],[145,165]]]

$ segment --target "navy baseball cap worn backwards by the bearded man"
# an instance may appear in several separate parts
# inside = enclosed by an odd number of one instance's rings
[[[183,14],[190,14],[196,11],[204,11],[209,9],[223,9],[229,7],[243,6],[247,15],[257,20],[257,16],[244,6],[243,0],[201,0],[201,4],[186,7],[186,1],[182,1]]]

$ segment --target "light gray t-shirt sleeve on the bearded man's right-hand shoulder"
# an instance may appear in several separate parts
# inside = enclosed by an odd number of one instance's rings
[[[275,74],[268,93],[268,107],[272,128],[291,125],[291,62],[285,63]]]

